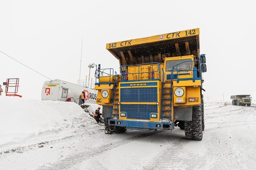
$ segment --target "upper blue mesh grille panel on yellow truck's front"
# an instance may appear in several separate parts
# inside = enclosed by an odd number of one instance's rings
[[[157,102],[157,88],[121,89],[121,102]]]

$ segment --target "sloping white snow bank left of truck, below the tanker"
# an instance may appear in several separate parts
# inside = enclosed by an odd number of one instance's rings
[[[94,129],[95,120],[76,103],[41,101],[18,97],[0,96],[0,148],[7,144],[24,143],[39,135],[67,132],[83,126]],[[92,104],[93,112],[98,107]]]

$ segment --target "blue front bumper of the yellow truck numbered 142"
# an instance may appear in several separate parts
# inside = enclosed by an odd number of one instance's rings
[[[109,126],[121,126],[137,130],[173,130],[174,122],[149,122],[149,121],[126,121],[126,120],[108,120]]]

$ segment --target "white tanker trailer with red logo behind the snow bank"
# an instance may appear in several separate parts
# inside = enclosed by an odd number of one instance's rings
[[[71,82],[55,79],[45,81],[42,88],[42,100],[59,100],[80,103],[80,95],[85,91],[85,103],[96,103],[98,90],[92,90]]]

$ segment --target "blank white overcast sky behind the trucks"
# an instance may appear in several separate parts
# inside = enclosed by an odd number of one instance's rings
[[[255,1],[1,1],[0,50],[50,79],[76,83],[90,63],[119,62],[105,44],[200,28],[207,99],[230,100],[255,86]],[[91,77],[94,76],[91,70]],[[41,99],[47,79],[0,53],[0,83],[20,78],[19,94]]]

